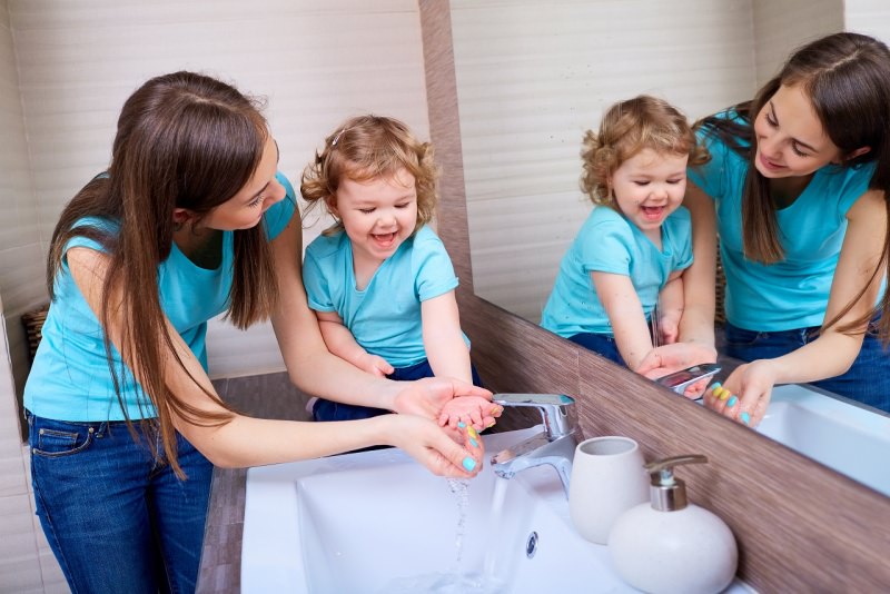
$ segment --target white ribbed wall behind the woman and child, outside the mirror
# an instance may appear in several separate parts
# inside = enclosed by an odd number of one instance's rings
[[[167,71],[202,71],[266,97],[280,169],[297,186],[315,148],[348,116],[392,115],[428,135],[413,0],[9,6],[43,238],[77,189],[107,166],[123,100]],[[323,225],[316,220],[307,240]],[[215,377],[283,369],[268,326],[241,333],[215,321],[210,335]]]

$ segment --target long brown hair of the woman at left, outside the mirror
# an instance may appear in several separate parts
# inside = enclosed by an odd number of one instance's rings
[[[120,303],[109,303],[106,297],[99,320],[115,392],[137,438],[121,396],[126,376],[115,368],[108,334],[116,310],[122,319],[121,355],[141,385],[141,393],[137,389],[139,408],[147,409],[147,396],[157,412],[157,418],[144,418],[140,425],[148,435],[160,434],[164,454],[156,439],[146,440],[152,454],[166,458],[180,476],[174,415],[189,423],[219,425],[231,418],[231,409],[219,402],[227,410],[201,412],[167,386],[165,355],[172,354],[185,366],[167,333],[160,296],[146,288],[158,286],[158,265],[172,249],[174,209],[187,208],[200,218],[235,196],[253,176],[268,137],[259,108],[256,99],[207,76],[175,72],[148,80],[123,105],[107,175],[98,176],[75,196],[52,234],[47,263],[52,299],[63,250],[72,237],[91,238],[108,254],[103,294],[111,296],[119,288]],[[99,217],[118,229],[78,222],[85,217]],[[261,224],[234,231],[234,246],[227,315],[237,327],[246,328],[269,316],[277,299],[277,281]]]

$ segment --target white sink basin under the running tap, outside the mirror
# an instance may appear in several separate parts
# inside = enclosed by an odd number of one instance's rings
[[[485,436],[486,454],[537,430]],[[605,546],[577,535],[552,467],[504,481],[486,464],[466,483],[463,533],[453,484],[396,449],[251,468],[241,591],[636,592],[612,570]],[[730,591],[751,592],[738,583]]]

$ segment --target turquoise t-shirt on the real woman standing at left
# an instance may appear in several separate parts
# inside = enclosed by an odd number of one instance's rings
[[[269,239],[280,234],[296,209],[296,195],[287,178],[278,174],[287,190],[286,197],[264,214]],[[119,228],[116,221],[86,218],[78,226],[96,226],[110,231]],[[234,232],[222,234],[222,263],[215,270],[196,266],[174,245],[169,257],[158,266],[160,305],[172,326],[207,369],[207,320],[226,311],[233,283]],[[65,247],[102,247],[83,237],[72,238]],[[63,260],[55,280],[56,300],[50,304],[42,328],[42,339],[34,355],[31,373],[24,386],[24,406],[32,414],[57,420],[97,422],[123,420],[108,368],[105,335]],[[131,419],[156,416],[148,407],[140,409],[141,388],[112,347],[116,369],[121,374],[121,397]]]

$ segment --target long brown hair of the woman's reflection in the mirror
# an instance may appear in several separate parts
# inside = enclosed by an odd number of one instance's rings
[[[812,41],[791,55],[779,75],[767,82],[753,100],[730,108],[740,121],[721,116],[709,116],[696,123],[714,135],[748,162],[748,174],[742,190],[742,240],[746,258],[762,264],[773,264],[784,258],[779,241],[775,205],[770,194],[769,180],[754,167],[756,138],[754,119],[782,86],[801,85],[810,98],[813,110],[828,137],[841,156],[869,147],[863,155],[844,159],[841,167],[862,167],[873,162],[874,172],[869,189],[884,195],[890,217],[890,50],[868,36],[841,32]],[[884,237],[881,263],[890,273],[890,229]],[[823,325],[837,324],[866,293],[858,296],[843,310]],[[861,333],[868,321],[882,313],[880,334],[884,344],[890,340],[890,297],[884,294],[880,305],[867,316],[844,325],[841,331]]]

